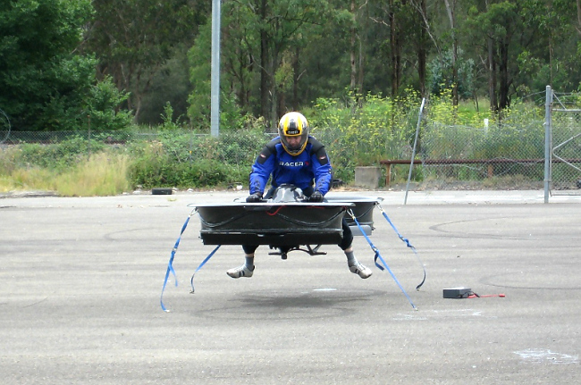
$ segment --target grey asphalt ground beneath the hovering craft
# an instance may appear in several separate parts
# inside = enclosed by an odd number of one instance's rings
[[[411,303],[356,237],[374,275],[327,255],[257,250],[251,279],[225,274],[189,205],[244,192],[0,199],[3,384],[573,384],[581,337],[579,197],[543,191],[349,192],[382,207],[371,236]],[[448,299],[469,288],[481,297]],[[503,294],[505,297],[484,297]]]

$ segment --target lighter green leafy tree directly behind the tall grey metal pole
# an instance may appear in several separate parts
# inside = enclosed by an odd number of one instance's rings
[[[298,108],[301,66],[305,64],[302,52],[320,37],[329,12],[327,0],[224,3],[221,95],[235,101],[241,113],[263,116],[273,126],[282,112]],[[190,50],[190,62],[195,62],[192,71],[197,73],[205,71],[207,65],[199,60],[205,52],[200,48],[207,46],[206,38],[200,36]],[[199,90],[194,89],[190,96],[192,103],[204,100]],[[203,107],[191,105],[189,111],[201,112]]]

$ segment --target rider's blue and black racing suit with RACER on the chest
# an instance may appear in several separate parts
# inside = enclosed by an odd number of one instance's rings
[[[272,187],[266,197],[282,184],[297,186],[303,190],[306,197],[310,197],[315,191],[324,196],[331,188],[332,172],[329,156],[323,144],[316,138],[309,136],[305,150],[299,155],[290,155],[282,147],[280,137],[277,137],[266,144],[252,165],[249,178],[250,194],[264,194],[266,184],[272,175]],[[345,250],[353,241],[353,234],[345,219],[342,222],[342,230],[343,239],[339,247]],[[242,247],[246,254],[252,254],[257,249],[256,245]]]

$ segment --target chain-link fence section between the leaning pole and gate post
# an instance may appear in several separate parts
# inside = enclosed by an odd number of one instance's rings
[[[415,148],[407,135],[394,143],[399,151],[380,162],[386,184],[401,184],[411,175],[412,189],[543,188],[543,105],[516,103],[491,118],[473,117],[478,123],[471,125],[454,123],[466,118],[451,114],[442,122],[434,113],[438,108],[427,105]]]

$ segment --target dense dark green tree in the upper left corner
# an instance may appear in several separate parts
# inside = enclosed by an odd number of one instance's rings
[[[0,108],[14,130],[73,130],[95,80],[78,51],[89,0],[19,0],[0,9]]]

